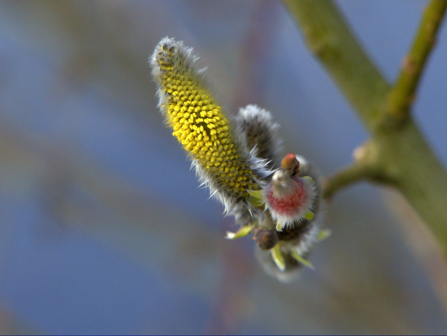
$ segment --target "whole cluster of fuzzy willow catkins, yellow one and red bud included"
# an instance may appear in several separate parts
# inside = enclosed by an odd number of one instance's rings
[[[160,111],[188,153],[199,181],[235,216],[234,239],[253,233],[267,272],[289,280],[304,264],[320,230],[320,181],[303,158],[288,154],[281,168],[278,124],[255,105],[234,119],[207,87],[205,68],[192,48],[163,38],[149,59]]]

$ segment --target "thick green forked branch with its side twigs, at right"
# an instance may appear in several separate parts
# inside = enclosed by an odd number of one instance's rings
[[[331,0],[285,0],[284,3],[310,50],[330,72],[371,132],[371,139],[354,163],[364,167],[364,174],[354,166],[342,175],[335,175],[326,184],[329,187],[326,194],[371,177],[368,172],[373,171],[373,180],[395,187],[405,196],[447,253],[447,172],[411,118],[395,123],[388,117],[390,93],[391,111],[398,111],[391,115],[402,119],[402,111],[409,108],[411,99],[408,98],[413,96],[434,45],[446,1],[432,0],[427,5],[401,75],[391,89]]]

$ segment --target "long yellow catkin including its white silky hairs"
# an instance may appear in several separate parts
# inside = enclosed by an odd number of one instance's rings
[[[211,189],[228,213],[261,186],[270,172],[265,160],[249,150],[244,133],[233,127],[207,88],[204,70],[192,48],[163,38],[150,58],[159,85],[159,107],[173,136],[192,159],[198,179]]]

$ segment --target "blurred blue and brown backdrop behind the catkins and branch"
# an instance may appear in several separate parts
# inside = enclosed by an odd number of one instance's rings
[[[337,1],[396,78],[425,1]],[[156,108],[148,56],[194,47],[229,114],[256,103],[324,174],[367,133],[280,2],[0,3],[0,333],[445,333],[447,272],[389,190],[340,192],[280,285],[198,188]],[[447,165],[447,25],[413,114]],[[417,238],[417,239],[415,239]],[[439,295],[441,293],[441,295]]]

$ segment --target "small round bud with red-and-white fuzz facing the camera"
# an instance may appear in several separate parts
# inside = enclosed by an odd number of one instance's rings
[[[277,170],[264,192],[264,201],[281,229],[304,220],[316,198],[315,183],[302,177],[289,176],[283,169]]]

